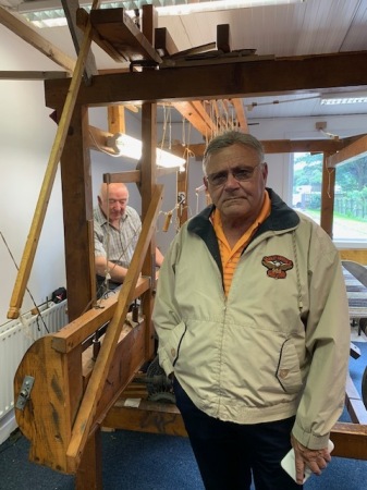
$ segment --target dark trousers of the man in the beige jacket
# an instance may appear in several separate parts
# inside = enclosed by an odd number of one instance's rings
[[[209,417],[174,380],[182,414],[206,490],[299,490],[280,461],[291,449],[294,417],[240,425]]]

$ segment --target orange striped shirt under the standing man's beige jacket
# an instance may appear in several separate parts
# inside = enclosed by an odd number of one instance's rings
[[[218,209],[216,209],[215,212],[211,215],[211,221],[215,228],[215,232],[219,244],[220,256],[222,259],[225,296],[228,296],[228,293],[230,291],[234,270],[237,266],[243,249],[248,244],[258,226],[266,220],[266,218],[268,218],[268,216],[270,215],[270,209],[271,203],[269,194],[266,191],[262,208],[259,212],[259,216],[256,218],[256,220],[249,226],[249,229],[241,236],[241,238],[237,241],[237,243],[234,245],[233,248],[230,247],[230,244],[228,243],[228,240],[224,235],[222,221]]]

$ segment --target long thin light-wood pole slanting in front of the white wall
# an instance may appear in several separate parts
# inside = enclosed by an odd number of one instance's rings
[[[100,0],[94,0],[93,9],[99,7]],[[68,136],[69,124],[72,119],[75,101],[77,98],[77,90],[81,86],[83,66],[85,58],[90,46],[90,27],[86,30],[83,40],[83,46],[73,72],[73,77],[70,84],[70,91],[68,94],[65,103],[63,106],[61,119],[59,122],[56,138],[52,145],[50,158],[46,169],[42,186],[37,201],[36,211],[32,221],[30,231],[27,236],[27,242],[22,256],[22,261],[15,280],[12,297],[10,301],[10,308],[8,318],[17,318],[19,311],[23,303],[25,289],[29,279],[30,269],[35,259],[36,249],[40,232],[42,229],[47,205],[51,195],[54,176],[60,161],[63,146]],[[62,107],[61,106],[61,107]]]

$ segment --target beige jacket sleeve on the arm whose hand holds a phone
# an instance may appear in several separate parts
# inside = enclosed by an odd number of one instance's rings
[[[313,245],[317,248],[319,242]],[[347,296],[338,250],[331,243],[327,246],[323,243],[317,257],[308,283],[306,350],[311,359],[293,428],[294,437],[315,450],[328,445],[330,431],[343,411],[351,342]]]

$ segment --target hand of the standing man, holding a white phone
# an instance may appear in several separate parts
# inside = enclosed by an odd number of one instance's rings
[[[298,485],[303,483],[306,466],[308,466],[315,475],[321,475],[322,469],[325,469],[331,461],[328,448],[310,450],[302,445],[293,436],[292,445],[294,449],[296,480]]]

